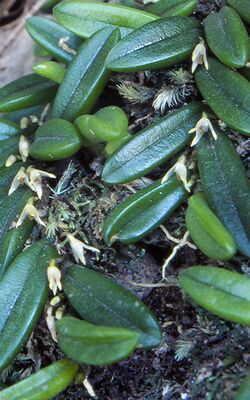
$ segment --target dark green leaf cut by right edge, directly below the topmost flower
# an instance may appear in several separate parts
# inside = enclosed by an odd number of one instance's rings
[[[209,69],[195,72],[197,86],[215,114],[230,128],[250,135],[250,82],[219,61],[208,59]]]

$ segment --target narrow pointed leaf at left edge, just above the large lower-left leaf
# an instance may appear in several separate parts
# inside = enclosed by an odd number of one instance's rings
[[[26,220],[18,228],[8,230],[0,240],[0,278],[12,261],[23,250],[33,226],[34,223],[32,221]]]

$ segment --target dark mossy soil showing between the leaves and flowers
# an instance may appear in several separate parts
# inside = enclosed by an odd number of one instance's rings
[[[200,1],[195,16],[200,20],[211,11],[217,10],[222,1]],[[174,66],[174,69],[189,70],[190,64]],[[172,68],[173,69],[173,68]],[[117,104],[130,116],[131,131],[138,132],[148,123],[161,116],[152,108],[155,94],[164,85],[169,84],[166,70],[148,74],[130,74],[113,76],[98,106]],[[117,83],[130,82],[138,90],[134,102],[122,97],[117,91]],[[192,82],[191,91],[183,101],[198,98]],[[169,109],[166,108],[165,112]],[[250,140],[229,132],[245,166],[249,168]],[[107,249],[102,241],[101,227],[110,209],[130,194],[130,187],[107,187],[100,180],[103,159],[86,152],[78,154],[73,160],[57,165],[57,175],[62,176],[69,162],[75,166],[75,172],[66,182],[68,191],[53,196],[48,190],[46,202],[41,204],[47,215],[48,223],[61,218],[78,235],[87,237],[94,246],[102,251],[99,260],[88,256],[88,266],[106,272],[110,277],[125,285],[137,294],[155,313],[163,330],[163,340],[159,347],[151,351],[137,351],[128,360],[105,368],[86,367],[86,373],[92,385],[96,399],[99,400],[231,400],[239,387],[241,379],[250,369],[250,328],[227,323],[205,312],[191,303],[178,287],[178,272],[192,265],[211,264],[198,250],[183,247],[171,262],[167,279],[159,287],[136,286],[136,283],[154,284],[161,282],[161,266],[171,253],[174,243],[170,242],[161,229],[158,229],[144,241],[134,246],[115,246]],[[154,179],[169,165],[163,166],[150,175]],[[63,175],[65,179],[65,174]],[[141,187],[145,182],[133,184]],[[88,206],[82,206],[88,201]],[[50,210],[50,214],[48,213]],[[172,236],[181,238],[185,233],[184,209],[181,208],[165,224]],[[56,237],[55,244],[64,256],[65,266],[72,262],[63,239]],[[215,262],[212,265],[216,265]],[[223,265],[219,263],[217,265]],[[246,259],[237,256],[227,263],[227,268],[236,269],[250,275],[250,265]],[[135,284],[132,285],[133,281]],[[62,299],[67,312],[68,303]],[[32,334],[27,346],[19,354],[13,365],[2,374],[7,384],[30,375],[63,354],[52,341],[44,317]],[[80,377],[79,377],[80,379]],[[57,396],[57,400],[87,400],[89,394],[82,384],[71,385],[67,391]]]

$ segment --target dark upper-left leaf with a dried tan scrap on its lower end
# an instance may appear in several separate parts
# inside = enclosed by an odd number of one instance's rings
[[[30,17],[26,21],[26,29],[37,44],[46,49],[53,57],[66,64],[73,60],[74,52],[82,44],[82,39],[48,18]],[[59,45],[61,39],[65,39],[65,43],[71,49],[71,52],[64,50]]]

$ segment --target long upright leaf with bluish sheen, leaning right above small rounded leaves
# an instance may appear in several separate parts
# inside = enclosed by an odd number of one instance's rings
[[[53,118],[72,121],[92,109],[108,81],[109,72],[104,64],[118,40],[118,30],[105,28],[80,47],[59,87]]]

